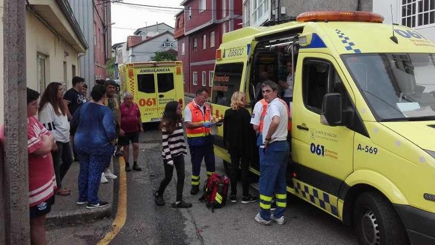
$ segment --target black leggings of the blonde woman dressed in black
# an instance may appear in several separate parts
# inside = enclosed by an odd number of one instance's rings
[[[241,163],[241,166],[240,166]],[[239,166],[241,167],[242,177],[242,191],[243,196],[249,195],[249,159],[246,156],[234,156],[231,155],[231,195],[237,193],[237,175],[239,172]]]

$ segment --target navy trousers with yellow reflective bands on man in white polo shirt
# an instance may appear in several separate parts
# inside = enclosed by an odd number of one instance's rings
[[[283,216],[287,205],[286,171],[289,158],[287,141],[273,142],[260,148],[260,216],[270,220],[272,196],[276,196],[275,217]]]

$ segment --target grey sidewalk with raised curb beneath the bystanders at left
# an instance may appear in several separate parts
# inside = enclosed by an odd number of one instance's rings
[[[113,161],[118,163],[118,157],[114,157]],[[119,170],[113,171],[113,164],[110,164],[112,173],[118,176]],[[118,164],[116,164],[118,166]],[[109,183],[100,184],[98,191],[98,198],[102,201],[109,202],[109,205],[102,208],[87,209],[86,204],[77,205],[77,198],[79,196],[78,189],[78,176],[80,164],[73,162],[68,173],[62,181],[62,187],[71,190],[69,196],[55,196],[55,203],[52,206],[51,212],[47,214],[46,225],[57,226],[65,224],[87,223],[92,220],[109,217],[113,212],[114,201],[114,181],[109,180]]]

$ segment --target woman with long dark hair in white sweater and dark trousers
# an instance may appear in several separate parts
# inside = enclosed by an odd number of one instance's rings
[[[51,149],[54,172],[56,174],[57,191],[60,196],[70,195],[70,191],[62,187],[62,180],[73,163],[70,144],[70,124],[66,115],[63,100],[63,86],[52,82],[45,88],[39,105],[39,120],[54,135],[56,144]]]

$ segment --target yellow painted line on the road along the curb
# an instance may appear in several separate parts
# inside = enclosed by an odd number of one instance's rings
[[[112,231],[107,233],[103,239],[101,239],[97,245],[109,244],[115,236],[121,231],[126,224],[127,219],[127,178],[126,172],[123,171],[126,162],[124,157],[119,158],[119,191],[118,191],[118,211],[116,212],[115,221],[112,224]]]

